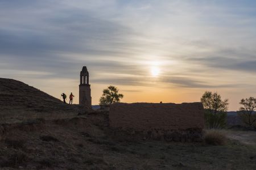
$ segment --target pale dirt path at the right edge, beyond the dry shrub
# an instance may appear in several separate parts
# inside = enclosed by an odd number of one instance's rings
[[[244,145],[256,145],[256,131],[225,130],[229,139],[234,139]]]

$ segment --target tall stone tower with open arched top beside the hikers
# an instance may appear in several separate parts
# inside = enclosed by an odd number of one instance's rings
[[[79,104],[92,108],[92,97],[90,96],[89,72],[86,66],[80,72]]]

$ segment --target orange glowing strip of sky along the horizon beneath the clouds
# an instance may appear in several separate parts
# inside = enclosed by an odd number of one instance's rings
[[[75,95],[73,99],[74,104],[79,103],[79,74],[77,74],[77,80],[66,80],[66,79],[49,79],[44,82],[44,86],[38,80],[22,80],[24,83],[38,88],[41,91],[47,92],[49,95],[62,100],[61,93],[64,92],[67,96],[70,92]],[[190,103],[190,102],[200,102],[200,97],[207,90],[217,91],[221,94],[222,99],[229,99],[229,111],[238,111],[240,105],[239,99],[245,98],[249,94],[243,94],[242,92],[233,93],[232,90],[212,90],[212,89],[200,89],[200,88],[159,88],[157,83],[152,87],[142,87],[142,86],[122,86],[116,84],[94,84],[90,83],[92,90],[92,104],[98,105],[100,96],[102,95],[102,90],[109,85],[114,85],[119,88],[119,92],[124,95],[121,100],[123,103]],[[234,98],[235,96],[235,98]],[[237,97],[238,96],[238,97]],[[69,100],[68,100],[69,101]]]

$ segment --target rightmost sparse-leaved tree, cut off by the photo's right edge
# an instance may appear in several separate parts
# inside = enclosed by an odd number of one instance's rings
[[[256,122],[256,113],[254,112],[256,109],[256,99],[254,97],[242,99],[239,104],[243,105],[238,111],[242,121],[248,126],[253,126]]]

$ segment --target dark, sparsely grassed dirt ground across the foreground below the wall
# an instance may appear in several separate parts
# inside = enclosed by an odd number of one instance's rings
[[[225,146],[115,141],[103,114],[1,125],[2,169],[256,169],[253,133],[226,131]],[[246,135],[243,135],[246,134]]]

